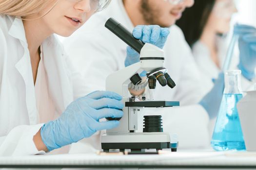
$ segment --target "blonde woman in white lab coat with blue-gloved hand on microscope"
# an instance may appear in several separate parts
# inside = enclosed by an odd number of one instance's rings
[[[109,1],[0,0],[0,155],[45,153],[118,126],[99,119],[122,117],[122,97],[81,97],[54,35],[71,35]]]

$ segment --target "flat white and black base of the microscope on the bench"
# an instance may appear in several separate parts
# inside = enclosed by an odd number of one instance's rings
[[[173,152],[177,151],[177,135],[163,132],[156,133],[114,133],[103,134],[101,138],[101,148],[104,152],[110,149],[157,149],[170,148]]]

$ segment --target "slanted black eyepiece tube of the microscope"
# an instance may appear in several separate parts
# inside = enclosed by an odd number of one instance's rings
[[[132,47],[135,51],[140,53],[142,47],[144,46],[144,43],[141,40],[136,39],[133,34],[117,20],[112,17],[109,18],[105,23],[105,27],[109,29],[112,33],[117,35],[121,40],[123,40],[127,45]]]

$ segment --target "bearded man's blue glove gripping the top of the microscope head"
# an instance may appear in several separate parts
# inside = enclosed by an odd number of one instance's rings
[[[158,25],[138,25],[133,30],[133,36],[140,39],[144,43],[154,44],[159,48],[163,48],[170,31],[168,28],[161,28]],[[125,67],[139,62],[139,54],[133,50],[130,46],[127,47],[127,55],[125,58]],[[146,76],[146,72],[143,71],[140,74],[141,77]]]

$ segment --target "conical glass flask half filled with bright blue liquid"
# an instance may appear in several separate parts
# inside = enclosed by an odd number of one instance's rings
[[[217,151],[245,150],[236,103],[242,98],[241,70],[225,72],[225,89],[220,104],[211,146]]]

